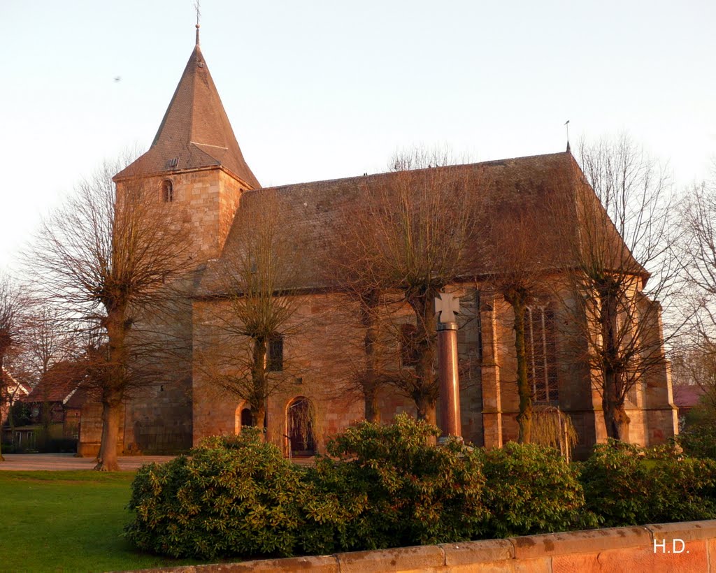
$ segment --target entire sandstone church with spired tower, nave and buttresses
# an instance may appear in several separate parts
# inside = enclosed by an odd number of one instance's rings
[[[250,423],[246,403],[231,393],[217,391],[195,365],[202,337],[212,328],[207,317],[222,304],[213,280],[216,268],[222,258],[230,256],[231,243],[250,234],[254,224],[243,214],[243,205],[250,205],[259,194],[274,194],[292,221],[292,232],[301,235],[301,248],[310,260],[330,240],[325,236],[329,228],[326,220],[334,215],[337,205],[357,200],[350,197],[357,197],[355,190],[367,181],[381,182],[395,176],[384,173],[263,189],[243,157],[198,39],[197,31],[195,47],[150,149],[114,178],[118,194],[130,177],[141,177],[156,188],[160,200],[173,204],[169,207],[183,209],[195,263],[193,290],[185,301],[185,312],[171,327],[173,336],[184,343],[183,357],[178,358],[175,372],[169,373],[166,381],[125,403],[120,433],[121,448],[126,453],[185,451],[205,436],[236,434],[242,425]],[[545,197],[569,202],[579,193],[596,199],[569,150],[461,168],[480,170],[488,175],[492,189],[513,197],[532,197],[535,205],[550,204]],[[541,224],[553,224],[545,209],[536,211],[538,224],[540,217]],[[564,222],[567,232],[574,232],[578,225]],[[464,308],[458,334],[460,362],[470,365],[460,380],[463,436],[474,444],[501,446],[518,435],[511,309],[500,295],[480,284],[479,278],[455,288],[463,295]],[[349,377],[347,349],[361,340],[360,334],[335,318],[334,294],[321,288],[320,278],[310,270],[298,285],[296,296],[300,301],[294,321],[303,328],[291,339],[271,346],[269,356],[278,369],[282,361],[292,358],[301,363],[300,376],[281,386],[267,405],[268,439],[286,455],[320,451],[326,436],[364,416],[362,397],[341,384]],[[534,399],[558,406],[570,416],[579,435],[578,450],[584,452],[606,439],[601,395],[594,383],[597,375],[586,365],[560,358],[560,348],[566,341],[553,325],[566,322],[568,317],[558,305],[541,301],[528,308],[526,318],[528,374]],[[661,325],[658,320],[654,322],[652,330],[659,333]],[[310,436],[294,435],[291,416],[305,411],[307,404],[311,404],[311,423],[316,427]],[[382,391],[378,406],[383,421],[390,421],[401,411],[415,413],[414,403],[395,391]],[[97,404],[87,405],[82,412],[81,454],[92,455],[98,449],[100,412]],[[655,444],[674,435],[677,411],[666,361],[632,389],[627,412],[632,442]]]

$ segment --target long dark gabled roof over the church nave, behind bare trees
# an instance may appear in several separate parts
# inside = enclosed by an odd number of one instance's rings
[[[569,152],[433,169],[465,175],[473,182],[470,185],[477,185],[478,192],[487,195],[491,220],[482,222],[485,233],[479,240],[488,243],[495,253],[500,253],[505,233],[511,232],[509,223],[519,220],[521,232],[526,237],[533,237],[533,240],[526,241],[528,256],[541,261],[545,270],[566,268],[576,265],[565,258],[566,243],[584,240],[584,236],[590,234],[585,230],[595,234],[596,229],[599,239],[608,245],[606,256],[614,261],[615,268],[629,268],[636,275],[648,276],[629,253]],[[301,258],[301,278],[298,284],[292,286],[330,288],[332,280],[326,276],[324,260],[330,258],[331,250],[336,248],[334,232],[337,221],[346,212],[360,209],[362,203],[369,200],[372,189],[381,185],[390,186],[396,177],[399,177],[396,172],[387,172],[245,192],[221,258],[208,263],[196,294],[221,293],[220,269],[232,256],[231,253],[241,250],[246,237],[256,232],[251,209],[246,207],[266,193],[275,195],[282,220],[291,235],[292,250]],[[455,197],[456,209],[460,208],[464,199]],[[500,225],[493,224],[495,220]],[[505,222],[508,224],[505,225]],[[483,245],[474,246],[478,249]],[[490,270],[494,269],[471,269],[474,276],[486,275]]]

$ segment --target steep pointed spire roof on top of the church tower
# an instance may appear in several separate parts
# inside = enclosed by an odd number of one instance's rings
[[[261,187],[243,159],[197,36],[150,149],[115,180],[212,166],[225,168],[252,189]]]

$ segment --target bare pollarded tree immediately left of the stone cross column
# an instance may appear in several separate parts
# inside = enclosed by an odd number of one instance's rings
[[[437,338],[433,300],[446,286],[475,268],[479,227],[480,170],[451,166],[446,154],[415,150],[397,155],[392,173],[367,177],[360,206],[340,218],[347,290],[366,328],[367,401],[377,383],[374,371],[377,320],[392,332],[410,361],[387,378],[412,398],[417,416],[435,422]],[[396,318],[408,313],[412,328]],[[371,355],[373,353],[373,355]],[[405,355],[406,353],[403,352]],[[373,370],[372,370],[373,369]],[[367,404],[370,413],[374,406]]]

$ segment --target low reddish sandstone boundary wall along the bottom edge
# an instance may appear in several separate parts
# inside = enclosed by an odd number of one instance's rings
[[[716,572],[716,520],[145,571]]]

